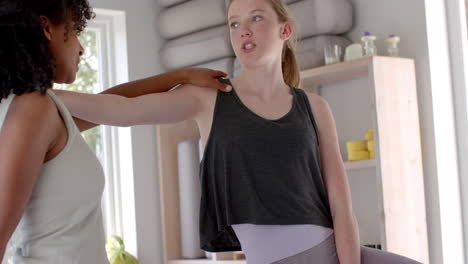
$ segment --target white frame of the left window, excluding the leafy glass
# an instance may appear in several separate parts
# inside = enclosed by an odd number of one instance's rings
[[[97,32],[98,91],[129,81],[126,17],[124,11],[95,8],[87,30]],[[103,169],[103,220],[106,235],[124,238],[127,251],[137,255],[132,132],[129,127],[101,126]]]

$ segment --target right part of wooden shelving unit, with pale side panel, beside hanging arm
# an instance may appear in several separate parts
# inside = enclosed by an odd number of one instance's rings
[[[317,93],[329,85],[367,80],[376,158],[345,166],[348,170],[375,166],[383,248],[429,263],[414,61],[365,57],[305,70],[301,77],[304,89]]]

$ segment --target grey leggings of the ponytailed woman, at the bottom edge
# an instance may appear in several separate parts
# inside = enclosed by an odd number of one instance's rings
[[[330,236],[317,246],[296,255],[278,260],[273,264],[339,264],[335,236]],[[361,264],[421,264],[412,259],[390,252],[361,247]]]

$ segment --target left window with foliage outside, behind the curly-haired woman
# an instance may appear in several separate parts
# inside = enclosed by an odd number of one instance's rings
[[[80,35],[85,49],[77,80],[63,89],[99,93],[128,81],[125,13],[95,8]],[[136,255],[131,128],[100,126],[83,132],[106,175],[102,209],[106,236],[121,235]],[[125,197],[122,199],[122,197]]]

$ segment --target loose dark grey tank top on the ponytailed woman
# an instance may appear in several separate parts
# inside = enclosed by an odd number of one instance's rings
[[[234,224],[333,228],[309,100],[301,89],[291,92],[291,110],[268,120],[234,89],[218,91],[200,164],[202,249],[241,250]]]

